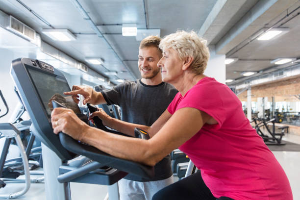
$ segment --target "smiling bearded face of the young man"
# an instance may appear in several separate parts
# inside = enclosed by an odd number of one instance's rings
[[[157,62],[160,60],[161,55],[156,47],[144,47],[139,49],[139,70],[142,78],[153,78],[160,69],[157,67]]]

